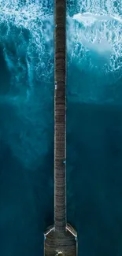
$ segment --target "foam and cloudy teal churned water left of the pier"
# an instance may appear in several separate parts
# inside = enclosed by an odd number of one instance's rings
[[[0,134],[13,155],[31,169],[49,147],[53,41],[50,1],[0,0],[0,46],[10,73],[9,89],[0,96]]]

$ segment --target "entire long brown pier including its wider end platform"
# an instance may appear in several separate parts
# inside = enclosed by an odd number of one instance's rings
[[[77,233],[66,214],[66,1],[54,2],[54,224],[44,233],[44,255],[76,256]]]

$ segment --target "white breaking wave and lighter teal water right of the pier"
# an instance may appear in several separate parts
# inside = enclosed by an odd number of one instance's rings
[[[68,10],[68,60],[80,76],[79,101],[115,102],[122,78],[122,3],[78,1]],[[70,68],[69,68],[70,76]],[[88,78],[87,78],[88,77]]]

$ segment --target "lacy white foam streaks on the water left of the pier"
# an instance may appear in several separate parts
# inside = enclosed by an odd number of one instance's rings
[[[37,79],[41,81],[50,79],[54,71],[53,20],[53,9],[50,8],[49,13],[48,2],[44,4],[43,1],[31,0],[22,4],[17,0],[0,0],[0,41],[4,44],[9,69],[12,65],[12,54],[7,46],[12,40],[18,58],[20,58],[20,50],[23,50],[27,65],[28,58],[35,65]]]

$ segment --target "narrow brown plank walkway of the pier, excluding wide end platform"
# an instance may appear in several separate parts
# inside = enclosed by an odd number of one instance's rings
[[[66,71],[65,71],[65,0],[55,0],[55,70],[54,94],[54,225],[66,225]]]

